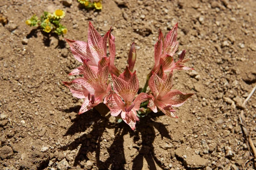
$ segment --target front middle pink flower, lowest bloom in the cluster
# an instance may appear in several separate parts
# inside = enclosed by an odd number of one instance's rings
[[[111,110],[112,116],[118,116],[121,113],[123,121],[134,130],[136,121],[139,121],[136,111],[140,109],[142,102],[151,99],[151,97],[148,94],[140,93],[135,98],[139,90],[139,81],[136,71],[131,73],[127,66],[119,77],[112,74],[112,79],[114,92],[116,93],[112,94],[107,106]]]

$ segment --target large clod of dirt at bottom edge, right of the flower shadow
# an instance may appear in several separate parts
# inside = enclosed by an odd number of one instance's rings
[[[184,163],[190,168],[202,168],[208,164],[208,160],[201,158],[199,155],[193,155],[184,159]]]

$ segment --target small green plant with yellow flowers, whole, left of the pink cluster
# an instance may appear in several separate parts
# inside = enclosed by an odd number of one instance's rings
[[[60,23],[63,17],[65,17],[65,12],[61,9],[57,9],[53,14],[44,11],[40,20],[34,14],[29,20],[26,20],[26,25],[37,26],[44,32],[50,33],[52,31],[63,36],[63,34],[67,34],[67,28]]]

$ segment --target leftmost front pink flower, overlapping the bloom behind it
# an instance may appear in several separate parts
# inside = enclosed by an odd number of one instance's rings
[[[84,99],[79,114],[84,113],[99,103],[106,103],[111,96],[111,85],[108,84],[108,65],[101,68],[98,72],[94,71],[84,60],[84,78],[74,79],[72,82],[63,82],[70,88],[73,96]]]

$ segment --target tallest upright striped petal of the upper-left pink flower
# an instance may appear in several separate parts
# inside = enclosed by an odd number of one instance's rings
[[[89,22],[89,29],[88,29],[88,45],[90,47],[90,51],[94,57],[98,57],[102,59],[105,53],[105,49],[102,49],[102,46],[99,47],[99,42],[102,40],[102,37],[93,27],[92,23]],[[99,61],[98,61],[99,62]],[[97,62],[97,63],[98,63]]]

